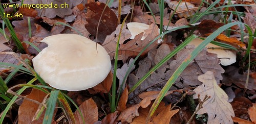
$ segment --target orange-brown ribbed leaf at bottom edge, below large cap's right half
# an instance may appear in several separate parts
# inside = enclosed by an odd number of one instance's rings
[[[82,105],[79,106],[79,110],[83,115],[83,119],[86,123],[94,123],[98,121],[98,107],[93,101],[92,98],[89,98],[87,101],[84,101]],[[82,117],[79,112],[76,110],[74,113],[76,123],[83,123]]]

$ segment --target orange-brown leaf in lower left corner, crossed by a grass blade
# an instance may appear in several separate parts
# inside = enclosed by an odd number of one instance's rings
[[[42,103],[46,95],[47,94],[45,92],[42,92],[38,89],[32,89],[31,93],[26,97],[39,103]],[[45,116],[45,112],[41,114],[38,120],[34,120],[32,122],[32,119],[35,116],[37,109],[39,109],[38,107],[39,105],[37,103],[25,99],[18,109],[18,123],[42,123],[42,120]],[[54,112],[53,116],[55,116],[56,112],[57,111]],[[52,120],[52,122],[53,121],[54,119]]]

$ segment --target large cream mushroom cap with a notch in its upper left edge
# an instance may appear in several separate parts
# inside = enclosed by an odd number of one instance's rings
[[[58,34],[41,40],[48,44],[35,58],[35,71],[50,86],[68,91],[92,88],[108,76],[110,56],[96,42],[76,34]],[[98,53],[97,53],[98,51]]]

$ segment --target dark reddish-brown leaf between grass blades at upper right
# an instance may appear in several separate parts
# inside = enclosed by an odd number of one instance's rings
[[[224,26],[224,23],[217,23],[214,20],[204,19],[200,24],[198,24],[198,30],[201,35],[204,35],[207,33],[212,33],[222,26]]]

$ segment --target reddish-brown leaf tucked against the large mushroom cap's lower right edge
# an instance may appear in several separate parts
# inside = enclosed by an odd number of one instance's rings
[[[90,92],[90,94],[96,94],[99,92],[108,93],[110,92],[112,82],[113,82],[113,74],[110,71],[109,75],[101,83],[87,90]]]

